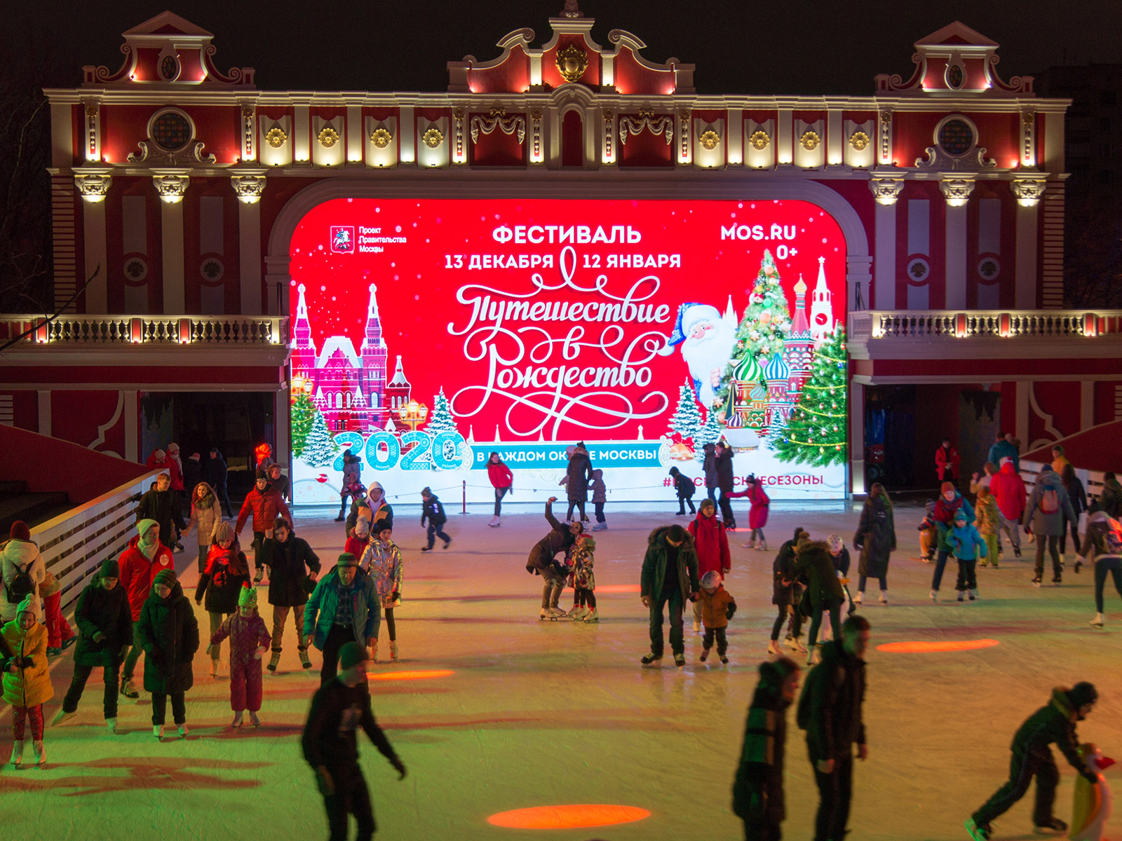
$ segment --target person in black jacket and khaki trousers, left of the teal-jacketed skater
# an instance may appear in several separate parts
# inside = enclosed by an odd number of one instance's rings
[[[277,671],[280,663],[280,637],[284,623],[292,611],[296,625],[296,649],[300,663],[311,668],[307,658],[307,640],[304,639],[304,606],[307,594],[315,588],[320,574],[320,558],[307,540],[296,537],[292,525],[283,517],[273,524],[273,537],[266,538],[261,547],[261,558],[269,567],[269,604],[273,606],[273,658],[269,672]]]

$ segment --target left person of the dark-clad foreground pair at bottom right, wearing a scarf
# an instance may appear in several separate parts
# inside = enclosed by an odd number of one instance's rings
[[[788,657],[760,664],[744,748],[733,782],[733,814],[744,821],[745,841],[778,841],[787,817],[783,803],[783,755],[787,708],[799,690],[799,665]]]

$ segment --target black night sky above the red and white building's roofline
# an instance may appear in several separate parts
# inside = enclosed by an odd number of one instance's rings
[[[42,84],[76,85],[82,64],[116,70],[120,33],[171,7],[214,34],[221,70],[256,67],[263,89],[442,91],[445,62],[494,58],[495,41],[522,27],[534,29],[540,45],[549,17],[563,4],[11,2],[0,12],[7,41],[0,52],[34,64]],[[582,0],[581,10],[597,19],[592,35],[600,44],[608,45],[611,29],[626,29],[647,44],[643,55],[651,61],[695,63],[699,93],[872,94],[875,74],[910,75],[913,41],[956,19],[1002,45],[1005,78],[1055,64],[1122,62],[1118,0]]]

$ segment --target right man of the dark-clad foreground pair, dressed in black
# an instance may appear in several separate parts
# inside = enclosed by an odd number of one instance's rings
[[[798,723],[807,731],[807,754],[820,797],[815,841],[846,835],[853,796],[853,756],[868,757],[865,721],[865,649],[870,625],[861,614],[842,623],[840,639],[822,645],[821,662],[810,669],[799,699]]]

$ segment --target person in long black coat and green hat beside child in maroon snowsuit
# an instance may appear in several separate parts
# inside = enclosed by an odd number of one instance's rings
[[[137,641],[145,651],[144,687],[151,693],[151,732],[164,736],[167,696],[180,736],[187,734],[185,695],[194,684],[191,662],[199,650],[199,621],[171,570],[160,570],[140,609]]]

